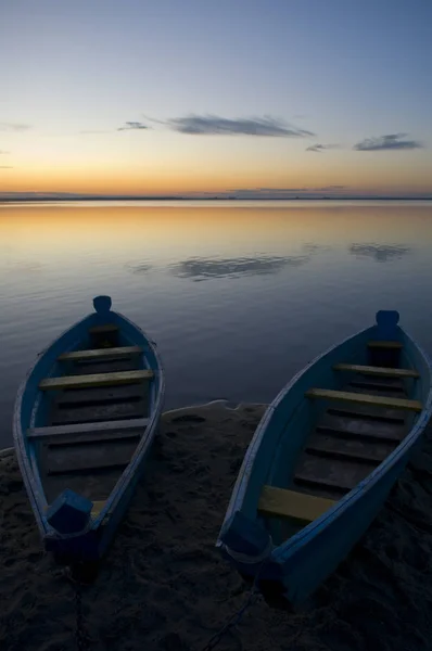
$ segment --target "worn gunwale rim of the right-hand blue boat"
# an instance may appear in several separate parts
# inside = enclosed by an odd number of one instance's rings
[[[223,525],[219,531],[216,547],[225,547],[225,544],[223,542],[223,540],[220,538],[221,532],[225,527],[225,524],[228,521],[228,519],[236,511],[238,511],[238,510],[241,511],[241,508],[244,502],[244,497],[245,497],[247,488],[249,488],[250,474],[251,474],[252,468],[255,463],[255,459],[256,459],[256,455],[259,450],[259,446],[265,436],[268,421],[271,418],[271,416],[275,413],[275,411],[277,410],[281,400],[287,396],[287,394],[292,390],[292,387],[297,383],[297,381],[313,366],[318,363],[320,361],[320,359],[322,359],[323,357],[329,355],[331,352],[333,352],[339,346],[342,346],[342,345],[348,343],[350,341],[355,340],[356,337],[359,337],[360,335],[365,335],[367,333],[367,331],[372,330],[372,328],[374,328],[374,326],[359,330],[355,334],[338,342],[336,344],[334,344],[333,346],[330,346],[328,349],[326,349],[320,355],[316,356],[312,361],[309,361],[303,369],[301,369],[290,380],[290,382],[279,392],[279,394],[276,396],[276,398],[272,400],[272,403],[268,406],[261,422],[258,423],[258,426],[255,431],[255,434],[250,443],[250,446],[249,446],[245,457],[243,459],[243,463],[239,471],[239,475],[238,475],[234,488],[231,494],[231,499],[228,505],[228,508],[227,508],[227,511],[226,511],[226,514],[225,514],[225,518],[223,521]],[[307,538],[307,539],[313,538],[313,537],[317,536],[321,529],[329,526],[331,524],[331,522],[333,522],[333,520],[335,520],[336,518],[340,516],[342,511],[346,510],[355,501],[357,501],[359,499],[360,495],[365,490],[372,488],[374,486],[374,484],[377,484],[378,481],[384,474],[386,474],[386,472],[390,470],[390,468],[393,467],[394,464],[396,464],[397,461],[399,461],[401,457],[406,451],[406,449],[407,448],[409,449],[409,447],[412,447],[414,444],[417,442],[417,439],[423,433],[424,427],[428,424],[428,421],[431,418],[431,413],[432,413],[432,359],[425,353],[425,350],[417,343],[416,340],[414,340],[401,326],[398,328],[402,331],[402,333],[404,334],[404,336],[410,342],[411,346],[417,348],[418,353],[421,355],[421,357],[423,358],[423,360],[425,361],[425,363],[429,368],[428,397],[423,405],[423,409],[419,413],[418,420],[412,425],[412,427],[410,429],[408,434],[404,437],[404,439],[399,443],[399,445],[371,473],[369,473],[364,480],[361,480],[361,482],[359,482],[354,488],[352,488],[352,490],[350,490],[346,495],[344,495],[340,500],[338,500],[335,502],[335,505],[333,507],[328,509],[319,518],[317,518],[316,520],[310,522],[308,525],[303,527],[300,532],[294,534],[292,537],[288,538],[280,545],[276,546],[271,552],[271,558],[276,562],[278,562],[278,561],[282,562],[282,563],[285,562],[288,560],[288,558],[291,554],[293,554],[298,549],[298,547],[301,547],[305,542],[305,538]],[[298,405],[301,405],[302,403],[303,403],[303,400],[301,403],[298,403]],[[298,408],[298,405],[296,407],[294,407],[293,411],[295,411],[295,409]],[[293,412],[291,412],[289,420],[291,420],[292,413]]]

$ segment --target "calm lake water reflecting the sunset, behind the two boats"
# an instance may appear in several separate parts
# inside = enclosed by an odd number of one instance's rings
[[[156,340],[166,408],[267,403],[378,309],[432,352],[432,203],[0,206],[0,447],[34,357],[97,294]]]

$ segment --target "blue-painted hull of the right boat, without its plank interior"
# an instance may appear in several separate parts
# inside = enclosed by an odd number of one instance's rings
[[[258,576],[258,586],[283,596],[296,605],[326,579],[347,556],[382,508],[391,488],[405,469],[432,412],[429,356],[397,326],[397,312],[378,312],[377,326],[333,346],[313,360],[280,392],[264,414],[249,446],[216,542],[221,554],[244,577]],[[341,390],[343,374],[332,370],[339,362],[367,365],[367,342],[392,340],[403,344],[402,368],[416,369],[420,378],[407,382],[409,397],[422,401],[423,409],[410,417],[410,431],[402,443],[355,488],[320,518],[274,545],[266,553],[265,536],[253,523],[271,534],[268,519],[257,512],[264,485],[288,487],[294,465],[323,406],[305,398],[310,387]],[[249,519],[239,542],[239,527],[230,531],[236,513]],[[258,541],[262,549],[259,549]],[[237,545],[233,549],[230,545]],[[254,552],[250,550],[255,545]],[[266,557],[263,561],[263,554]]]

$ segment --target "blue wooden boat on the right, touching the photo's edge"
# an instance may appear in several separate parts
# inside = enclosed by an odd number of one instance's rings
[[[217,540],[271,603],[301,604],[366,532],[431,416],[431,361],[396,311],[314,359],[264,414]]]

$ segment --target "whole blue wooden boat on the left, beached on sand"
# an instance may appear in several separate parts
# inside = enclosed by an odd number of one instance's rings
[[[139,480],[161,417],[155,344],[93,299],[94,312],[41,353],[18,390],[13,433],[45,547],[99,560]]]

